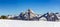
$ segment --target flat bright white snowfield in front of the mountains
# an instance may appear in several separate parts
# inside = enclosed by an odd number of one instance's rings
[[[0,27],[60,27],[60,22],[0,19]]]

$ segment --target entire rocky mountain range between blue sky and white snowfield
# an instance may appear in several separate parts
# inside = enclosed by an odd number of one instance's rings
[[[31,9],[21,12],[18,16],[8,15],[9,19],[27,20],[27,21],[59,21],[60,13],[47,12],[43,15],[35,14]]]

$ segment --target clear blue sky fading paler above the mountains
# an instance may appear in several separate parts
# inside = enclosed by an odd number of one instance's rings
[[[15,15],[32,9],[37,14],[60,12],[60,0],[0,0],[0,15]]]

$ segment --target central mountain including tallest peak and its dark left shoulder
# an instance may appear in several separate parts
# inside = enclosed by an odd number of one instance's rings
[[[22,19],[27,19],[27,20],[29,20],[29,19],[34,19],[35,17],[36,17],[36,14],[34,14],[34,12],[32,11],[32,10],[30,10],[30,9],[28,9],[28,11],[26,11],[26,12],[22,12],[22,13],[20,13],[20,15],[19,15]]]

